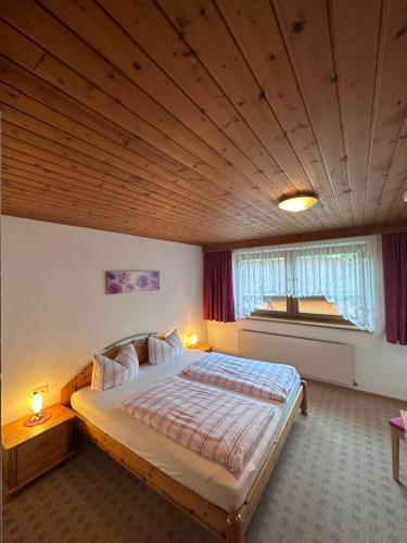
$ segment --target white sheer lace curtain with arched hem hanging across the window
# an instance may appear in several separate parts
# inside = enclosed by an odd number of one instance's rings
[[[364,330],[382,330],[380,237],[348,238],[234,251],[238,318],[267,298],[325,296]]]

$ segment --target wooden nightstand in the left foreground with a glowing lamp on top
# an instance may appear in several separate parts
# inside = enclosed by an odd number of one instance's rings
[[[27,428],[23,417],[2,427],[3,479],[7,497],[68,458],[74,452],[75,413],[61,404],[43,409],[51,418]]]

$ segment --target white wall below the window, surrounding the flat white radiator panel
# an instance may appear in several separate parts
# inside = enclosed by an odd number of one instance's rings
[[[241,328],[349,343],[354,345],[355,380],[360,390],[407,400],[407,346],[392,345],[357,330],[254,319],[207,323],[207,340],[216,350],[238,354]]]

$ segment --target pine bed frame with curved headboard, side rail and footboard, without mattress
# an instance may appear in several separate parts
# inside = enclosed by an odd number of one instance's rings
[[[110,345],[104,351],[104,355],[114,357],[119,349],[132,342],[140,364],[148,362],[148,337],[150,334],[133,336],[118,341]],[[72,394],[88,387],[91,381],[92,364],[89,364],[74,379],[72,379],[61,390],[61,403],[71,405]],[[131,471],[139,479],[144,481],[149,487],[154,489],[161,495],[165,496],[171,503],[180,507],[185,513],[199,521],[205,528],[226,540],[228,543],[243,543],[244,534],[249,528],[254,512],[260,501],[264,489],[272,473],[277,464],[278,457],[289,437],[290,430],[294,424],[295,415],[301,409],[303,415],[307,414],[307,393],[306,382],[301,381],[298,393],[294,403],[290,408],[289,416],[285,422],[279,430],[279,433],[272,443],[270,451],[250,489],[243,505],[233,512],[226,512],[217,505],[208,502],[200,494],[196,494],[188,487],[176,481],[164,471],[144,460],[141,456],[122,445],[118,441],[106,434],[84,417],[77,414],[76,426],[80,433],[98,445],[102,451],[107,453],[112,458],[122,464],[126,469]]]

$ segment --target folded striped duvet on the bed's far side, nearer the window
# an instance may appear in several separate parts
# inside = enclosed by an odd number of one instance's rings
[[[191,364],[183,375],[207,384],[262,400],[287,402],[300,376],[293,366],[211,353]]]

